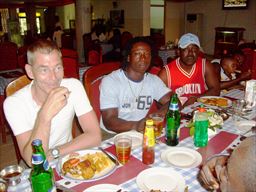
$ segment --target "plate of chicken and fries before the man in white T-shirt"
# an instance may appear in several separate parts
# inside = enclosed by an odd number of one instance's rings
[[[113,158],[114,155],[109,153]],[[66,179],[90,182],[112,174],[117,166],[100,150],[73,152],[59,159],[56,170]]]

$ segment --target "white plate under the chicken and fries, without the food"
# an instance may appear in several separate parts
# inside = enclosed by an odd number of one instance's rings
[[[76,151],[74,152],[76,154],[76,158],[82,159],[82,157],[86,154],[94,154],[96,152],[102,153],[102,151],[97,150],[97,149],[89,149],[89,150],[80,150],[80,151]],[[69,154],[69,155],[65,155],[63,157],[61,157],[58,161],[58,164],[56,166],[56,171],[59,175],[61,175],[62,177],[66,178],[66,179],[71,179],[71,180],[75,180],[75,181],[82,181],[82,182],[91,182],[91,181],[96,181],[99,179],[103,179],[109,175],[111,175],[116,169],[117,166],[112,162],[111,165],[109,167],[107,167],[106,169],[102,170],[99,173],[96,173],[92,178],[90,179],[84,179],[82,178],[82,176],[80,176],[79,178],[73,177],[71,174],[67,173],[67,174],[63,174],[62,173],[62,166],[63,164],[70,158],[73,157],[73,154]],[[107,152],[108,153],[108,152]],[[77,156],[77,154],[79,154],[79,156]],[[114,155],[112,155],[111,153],[108,153],[109,155],[111,155],[113,158],[116,159],[116,157]]]

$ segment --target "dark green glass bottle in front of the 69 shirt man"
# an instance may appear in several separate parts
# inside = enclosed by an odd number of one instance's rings
[[[165,141],[167,145],[176,146],[179,143],[178,129],[180,127],[180,111],[177,94],[173,94],[166,114]]]

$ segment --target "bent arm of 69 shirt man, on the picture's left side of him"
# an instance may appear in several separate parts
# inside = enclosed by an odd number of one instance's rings
[[[124,132],[129,130],[143,131],[145,119],[140,121],[126,121],[118,118],[118,109],[104,109],[101,111],[102,120],[105,127],[114,132]]]

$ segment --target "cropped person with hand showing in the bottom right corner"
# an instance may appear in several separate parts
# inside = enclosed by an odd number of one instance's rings
[[[203,165],[199,179],[205,188],[223,192],[256,190],[256,135],[238,145],[231,155],[218,155]]]

